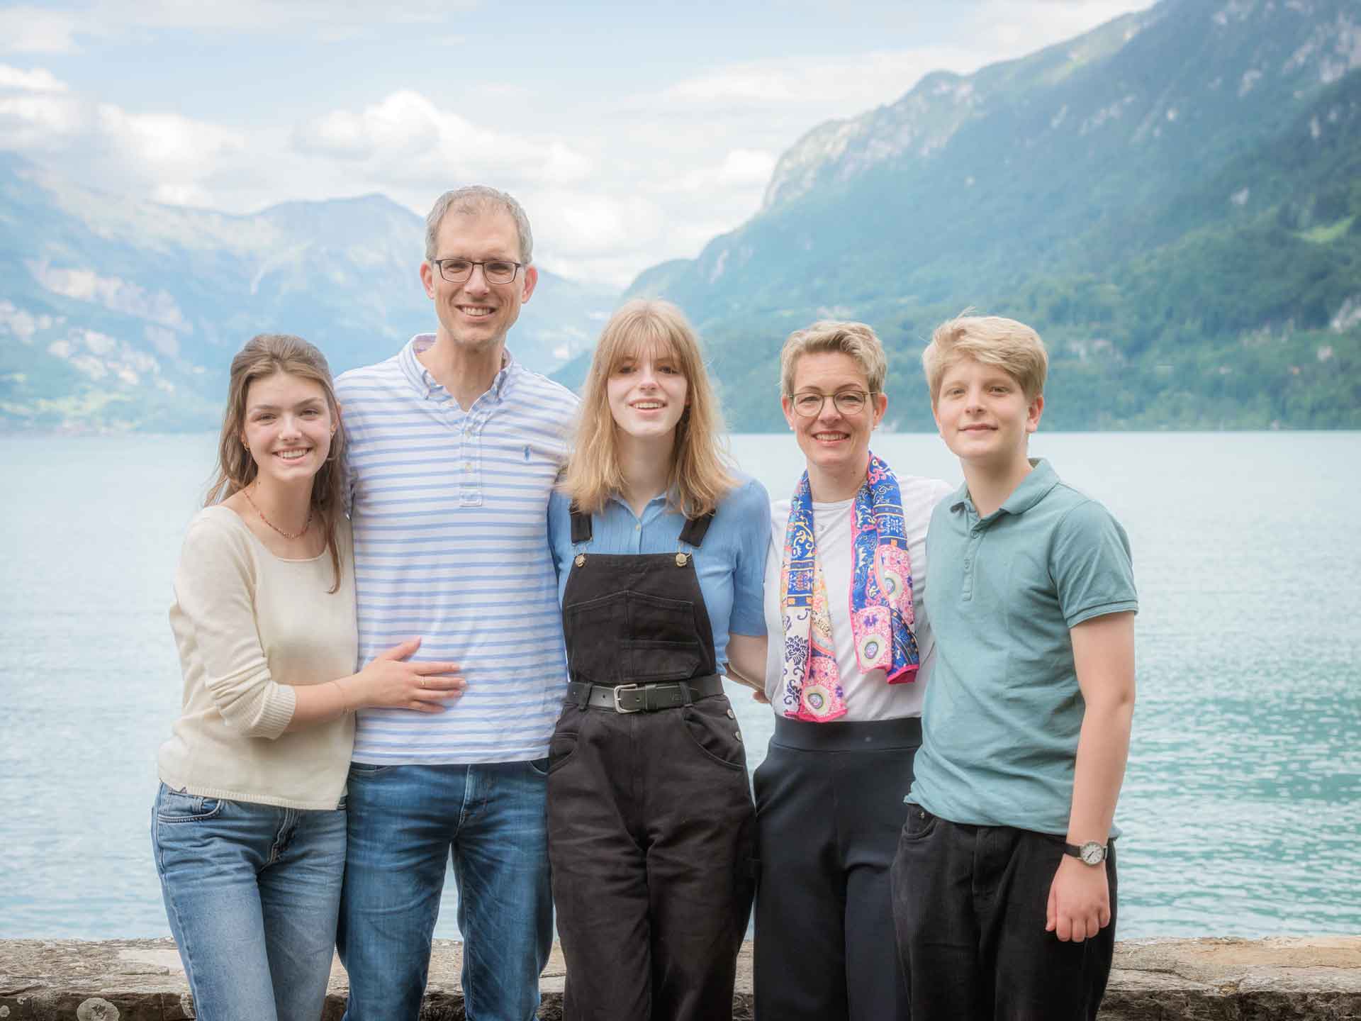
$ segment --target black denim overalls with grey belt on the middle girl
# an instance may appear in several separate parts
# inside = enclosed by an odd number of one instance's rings
[[[566,1021],[723,1021],[754,890],[755,810],[694,550],[576,557],[572,683],[548,757],[548,858]],[[702,555],[702,554],[701,554]]]

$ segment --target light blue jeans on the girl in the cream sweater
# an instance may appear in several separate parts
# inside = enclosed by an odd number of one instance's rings
[[[199,1021],[316,1021],[344,874],[346,811],[199,798],[165,784],[151,847]]]

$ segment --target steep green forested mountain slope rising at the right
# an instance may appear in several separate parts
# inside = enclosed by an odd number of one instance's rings
[[[1165,0],[814,128],[629,294],[697,321],[739,429],[780,425],[778,346],[829,316],[930,427],[916,355],[970,305],[1041,329],[1056,427],[1357,426],[1358,68],[1354,0]]]

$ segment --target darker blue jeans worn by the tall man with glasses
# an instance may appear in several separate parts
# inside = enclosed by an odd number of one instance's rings
[[[553,946],[548,760],[350,766],[350,851],[338,945],[346,1021],[421,1010],[445,862],[453,855],[468,1021],[531,1021]]]

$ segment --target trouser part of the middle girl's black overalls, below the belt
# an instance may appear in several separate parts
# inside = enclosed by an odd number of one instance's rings
[[[569,704],[548,751],[566,1021],[727,1021],[755,813],[727,696],[661,712]]]

